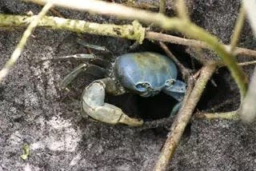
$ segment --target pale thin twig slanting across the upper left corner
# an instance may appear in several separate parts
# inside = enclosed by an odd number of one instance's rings
[[[47,13],[47,11],[50,9],[51,6],[53,6],[51,3],[46,3],[46,5],[42,8],[38,16],[36,16],[34,20],[30,22],[30,25],[26,28],[13,54],[11,54],[10,59],[6,62],[6,65],[3,66],[2,70],[0,71],[0,83],[4,78],[6,78],[11,67],[14,66],[14,64],[17,62],[19,56],[22,54],[22,50],[24,46],[26,46],[26,41],[30,37],[30,34],[32,33],[34,28],[38,25],[38,22],[40,21],[40,19]]]

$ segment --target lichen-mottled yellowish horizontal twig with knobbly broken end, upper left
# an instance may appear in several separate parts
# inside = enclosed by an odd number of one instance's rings
[[[37,18],[34,16],[20,16],[0,14],[0,26],[26,26]],[[142,43],[145,35],[145,28],[138,22],[132,25],[98,24],[95,22],[85,22],[82,20],[71,20],[58,17],[43,17],[38,26],[44,26],[54,30],[70,30],[76,33],[88,33],[106,35],[118,38],[128,38]]]

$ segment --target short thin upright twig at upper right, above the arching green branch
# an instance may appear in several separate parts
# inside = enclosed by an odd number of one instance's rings
[[[242,26],[243,26],[243,23],[245,22],[245,19],[246,19],[246,10],[242,4],[242,6],[240,7],[240,12],[238,14],[238,19],[234,26],[234,33],[232,35],[231,42],[230,42],[231,52],[234,51],[236,45],[238,44],[239,36],[241,34]]]

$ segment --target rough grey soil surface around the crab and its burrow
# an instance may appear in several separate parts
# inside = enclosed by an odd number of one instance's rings
[[[145,2],[145,1],[144,1]],[[152,1],[150,1],[152,2]],[[238,14],[236,1],[190,1],[193,22],[222,42],[229,43]],[[172,3],[170,3],[172,4]],[[18,0],[1,0],[0,13],[34,14],[41,6]],[[167,13],[174,14],[172,6]],[[85,19],[99,23],[127,23],[113,17],[95,16],[58,9],[66,18]],[[129,22],[128,22],[129,23]],[[0,66],[13,52],[24,28],[1,30]],[[177,34],[177,33],[174,33]],[[30,37],[18,63],[5,82],[0,85],[0,171],[2,170],[152,170],[166,140],[166,126],[152,129],[133,129],[125,125],[105,125],[82,118],[80,96],[82,89],[95,78],[82,75],[69,92],[58,89],[60,82],[79,60],[48,60],[70,54],[86,53],[76,42],[77,35],[68,31],[37,29]],[[114,55],[129,51],[162,53],[157,44],[145,42],[130,50],[132,41],[84,35],[87,42],[106,46]],[[255,41],[246,23],[239,46],[254,49]],[[170,45],[182,62],[190,65],[190,50]],[[98,53],[98,55],[107,55]],[[209,54],[212,55],[212,54]],[[240,61],[248,60],[239,57]],[[198,67],[198,64],[196,65]],[[244,70],[250,75],[253,66]],[[239,105],[239,93],[226,69],[214,74],[214,82],[207,86],[198,109],[230,111]],[[146,121],[166,116],[170,111],[170,97],[159,95],[150,99],[132,94],[107,97],[134,117]],[[147,115],[148,114],[148,115]],[[256,170],[256,127],[239,121],[192,120],[170,163],[170,170]],[[22,145],[30,146],[30,156],[22,160]]]

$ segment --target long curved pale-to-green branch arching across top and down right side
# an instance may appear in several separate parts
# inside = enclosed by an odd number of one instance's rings
[[[26,0],[27,2],[48,2],[46,0]],[[102,2],[97,0],[51,0],[56,6],[67,7],[74,10],[88,11],[96,14],[114,15],[118,18],[138,19],[141,22],[154,23],[164,30],[178,30],[190,38],[206,42],[211,50],[214,50],[230,70],[234,81],[238,85],[241,98],[245,97],[247,90],[247,77],[242,68],[237,65],[234,57],[214,35],[196,26],[192,22],[182,22],[179,18],[169,18],[166,15],[153,13],[146,10],[138,10],[116,3]]]

